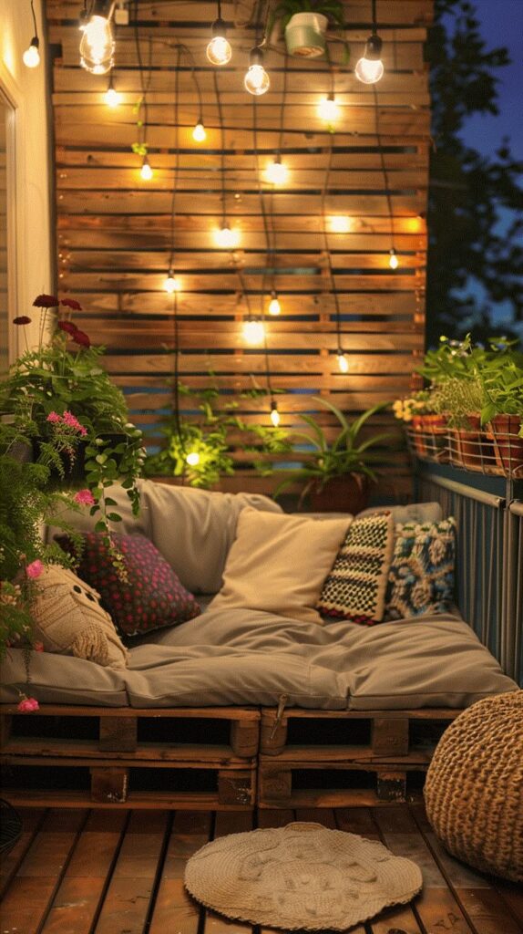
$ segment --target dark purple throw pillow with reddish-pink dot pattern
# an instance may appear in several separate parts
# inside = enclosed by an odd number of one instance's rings
[[[129,582],[117,576],[103,536],[84,534],[84,550],[78,574],[100,593],[103,608],[120,633],[135,636],[163,629],[198,616],[200,606],[182,586],[172,567],[145,535],[114,535],[125,559]],[[74,551],[70,539],[57,538],[66,551]]]

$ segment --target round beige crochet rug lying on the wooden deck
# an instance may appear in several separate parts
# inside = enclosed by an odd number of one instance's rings
[[[187,890],[229,918],[345,930],[420,891],[419,867],[381,843],[320,824],[232,833],[188,860]]]

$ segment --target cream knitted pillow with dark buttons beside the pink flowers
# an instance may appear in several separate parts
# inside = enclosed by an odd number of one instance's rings
[[[96,590],[55,564],[44,568],[35,589],[31,606],[34,637],[46,652],[74,655],[106,668],[127,666],[127,649],[101,607]]]

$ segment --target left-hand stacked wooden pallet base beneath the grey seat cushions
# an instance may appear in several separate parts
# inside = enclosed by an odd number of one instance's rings
[[[224,811],[255,806],[255,708],[41,704],[27,715],[3,704],[0,724],[3,794],[13,804]]]

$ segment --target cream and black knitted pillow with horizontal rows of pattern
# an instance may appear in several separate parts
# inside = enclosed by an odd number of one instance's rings
[[[323,584],[316,607],[323,616],[372,626],[383,618],[394,544],[392,516],[353,519]]]

